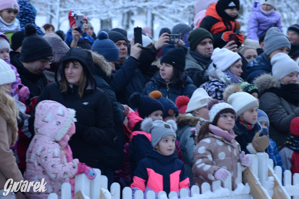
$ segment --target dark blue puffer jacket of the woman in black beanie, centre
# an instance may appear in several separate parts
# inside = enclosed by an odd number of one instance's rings
[[[147,82],[142,93],[144,95],[149,95],[150,92],[158,90],[162,93],[163,97],[168,98],[173,102],[176,101],[176,98],[179,95],[185,95],[191,98],[197,87],[193,84],[193,81],[185,72],[183,72],[182,78],[185,80],[185,85],[174,87],[173,82],[165,82],[160,76],[160,73],[157,73],[149,82]]]

